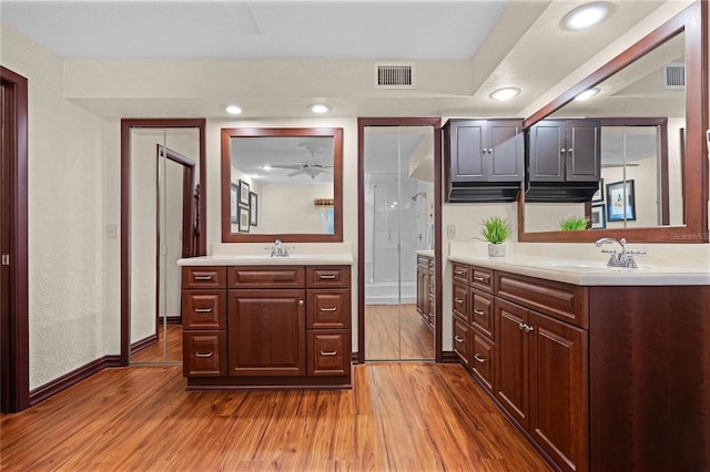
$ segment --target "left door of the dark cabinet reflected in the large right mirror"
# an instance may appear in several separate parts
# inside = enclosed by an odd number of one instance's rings
[[[531,182],[564,182],[567,123],[542,120],[530,126],[528,172]]]

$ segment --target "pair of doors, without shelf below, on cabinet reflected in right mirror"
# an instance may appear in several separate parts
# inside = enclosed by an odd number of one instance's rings
[[[598,120],[542,120],[529,130],[530,182],[598,182],[601,124]]]

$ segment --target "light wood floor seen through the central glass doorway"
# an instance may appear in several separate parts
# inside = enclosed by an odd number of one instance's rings
[[[434,359],[434,332],[416,305],[365,306],[367,360]]]

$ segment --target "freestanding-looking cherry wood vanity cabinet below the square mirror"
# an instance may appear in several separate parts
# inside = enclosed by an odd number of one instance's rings
[[[183,267],[183,280],[196,269]],[[220,269],[219,293],[183,285],[186,319],[202,316],[183,331],[189,388],[351,386],[349,266]],[[202,356],[212,345],[219,367]]]

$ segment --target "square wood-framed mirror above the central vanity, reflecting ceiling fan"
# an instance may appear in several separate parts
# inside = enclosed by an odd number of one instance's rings
[[[343,240],[343,130],[222,129],[222,242]]]

